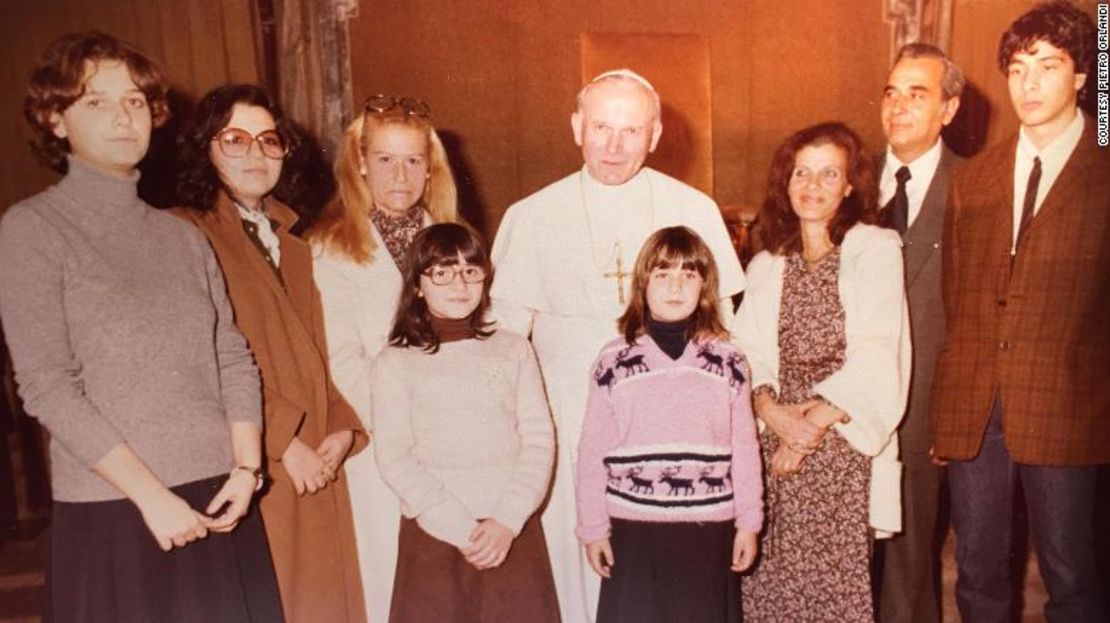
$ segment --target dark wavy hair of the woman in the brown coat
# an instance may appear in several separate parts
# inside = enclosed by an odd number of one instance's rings
[[[208,92],[178,134],[175,202],[193,210],[212,210],[221,190],[220,175],[209,155],[212,139],[228,127],[235,104],[259,107],[274,118],[278,133],[289,148],[281,178],[272,194],[281,201],[302,197],[304,177],[296,154],[302,138],[270,94],[254,84],[228,84]]]

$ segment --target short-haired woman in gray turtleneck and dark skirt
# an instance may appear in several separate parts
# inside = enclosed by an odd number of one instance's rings
[[[281,620],[248,514],[258,370],[203,237],[135,191],[168,115],[158,69],[110,36],[68,34],[23,108],[65,172],[0,222],[0,318],[51,435],[48,620]]]

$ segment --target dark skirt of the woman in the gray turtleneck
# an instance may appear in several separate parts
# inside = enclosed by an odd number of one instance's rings
[[[228,476],[171,489],[203,510]],[[252,508],[228,534],[163,552],[130,500],[54,502],[46,621],[282,621]]]

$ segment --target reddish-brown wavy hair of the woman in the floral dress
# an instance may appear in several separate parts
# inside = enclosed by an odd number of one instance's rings
[[[829,221],[829,239],[834,244],[844,242],[844,235],[856,223],[875,223],[878,187],[875,165],[865,153],[864,143],[851,128],[838,121],[818,123],[798,130],[775,151],[767,173],[767,197],[759,212],[759,228],[764,245],[776,254],[801,251],[801,225],[790,203],[790,177],[794,160],[806,147],[833,144],[845,153],[848,183],[851,194],[846,197]]]

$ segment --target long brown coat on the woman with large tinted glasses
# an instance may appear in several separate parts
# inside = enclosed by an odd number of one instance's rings
[[[289,233],[292,210],[268,200],[281,244],[279,280],[243,230],[226,195],[214,210],[178,210],[208,237],[223,269],[235,312],[262,374],[266,469],[273,479],[261,500],[285,617],[297,621],[365,621],[346,478],[299,496],[281,464],[296,435],[310,448],[336,431],[356,431],[352,452],[366,444],[354,410],[327,375],[320,294],[311,251]]]

